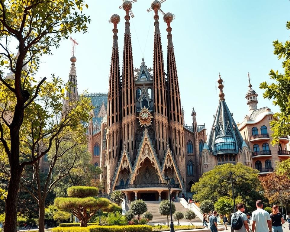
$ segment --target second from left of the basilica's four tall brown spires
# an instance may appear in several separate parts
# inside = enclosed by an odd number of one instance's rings
[[[122,138],[125,148],[132,157],[134,151],[133,135],[135,133],[135,96],[134,96],[134,68],[132,44],[130,35],[130,16],[132,3],[124,1],[122,8],[125,10],[125,34],[124,34],[124,52],[123,52],[123,72],[122,72]],[[130,133],[128,133],[130,131]]]

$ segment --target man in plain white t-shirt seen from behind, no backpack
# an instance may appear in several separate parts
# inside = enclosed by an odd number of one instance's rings
[[[256,201],[257,210],[252,213],[252,230],[253,232],[272,232],[272,224],[270,214],[263,210],[263,202],[261,200]],[[256,229],[256,230],[255,230]]]

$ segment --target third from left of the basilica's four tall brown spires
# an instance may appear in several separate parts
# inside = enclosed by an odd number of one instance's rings
[[[165,81],[163,53],[158,21],[159,19],[158,11],[161,8],[161,3],[155,0],[152,2],[151,8],[154,10],[154,20],[155,20],[154,49],[153,49],[153,79],[154,79],[153,89],[154,89],[154,114],[156,116],[154,116],[154,121],[157,139],[156,147],[159,154],[159,159],[162,159],[164,151],[166,150],[166,143],[168,139],[168,135],[166,133],[168,128],[167,123],[168,119],[166,109],[166,81]],[[176,136],[178,136],[178,134]]]

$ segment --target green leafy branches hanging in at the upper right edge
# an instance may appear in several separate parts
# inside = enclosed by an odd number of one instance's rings
[[[286,27],[290,30],[290,21],[286,22]],[[271,143],[278,144],[280,137],[290,134],[290,40],[285,43],[275,40],[273,46],[274,54],[283,60],[284,74],[271,69],[268,75],[274,82],[262,82],[260,88],[265,90],[263,97],[273,99],[273,105],[280,108],[280,112],[274,114],[274,120],[270,122],[271,130],[274,131]]]

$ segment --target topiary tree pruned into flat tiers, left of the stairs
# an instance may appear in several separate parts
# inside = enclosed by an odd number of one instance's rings
[[[67,189],[69,197],[58,197],[54,200],[57,208],[69,211],[79,218],[80,226],[87,227],[88,221],[99,209],[106,210],[109,200],[97,198],[98,188],[86,186],[72,186]]]

